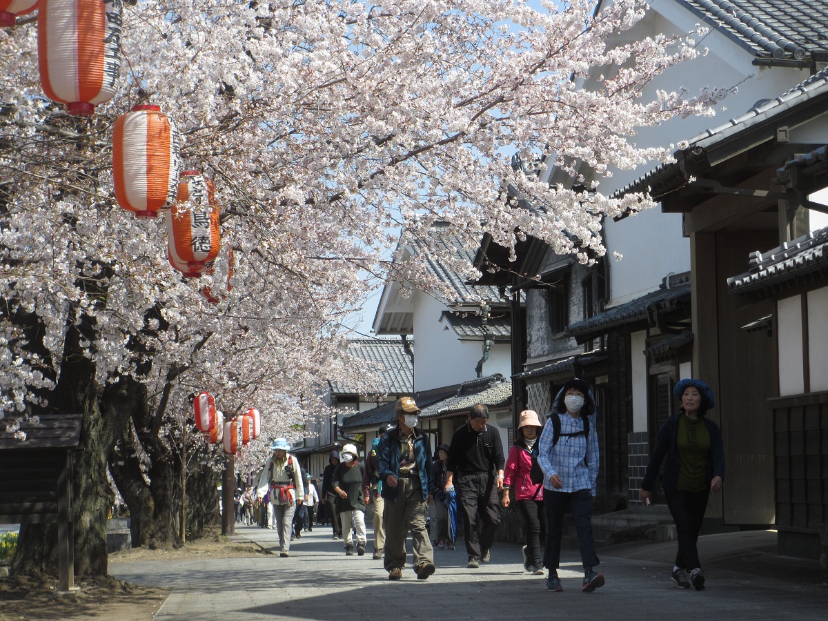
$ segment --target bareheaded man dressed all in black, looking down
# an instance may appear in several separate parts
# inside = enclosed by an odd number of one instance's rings
[[[503,443],[500,433],[486,425],[489,408],[477,403],[471,408],[469,421],[451,438],[445,491],[454,489],[463,508],[463,532],[467,567],[477,569],[489,562],[489,549],[500,524],[500,499],[503,490]]]

